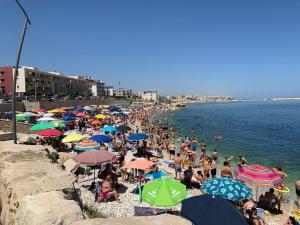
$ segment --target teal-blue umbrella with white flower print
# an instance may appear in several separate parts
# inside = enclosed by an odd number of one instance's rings
[[[244,183],[227,178],[213,178],[205,181],[201,189],[211,195],[218,195],[231,201],[240,201],[252,198],[252,190]]]

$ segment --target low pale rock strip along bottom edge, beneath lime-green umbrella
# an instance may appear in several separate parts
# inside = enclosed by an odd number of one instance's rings
[[[72,225],[191,225],[179,216],[158,215],[128,218],[90,219],[72,223]]]

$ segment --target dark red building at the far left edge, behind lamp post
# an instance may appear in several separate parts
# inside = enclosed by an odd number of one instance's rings
[[[13,67],[0,67],[0,97],[10,96],[13,89]]]

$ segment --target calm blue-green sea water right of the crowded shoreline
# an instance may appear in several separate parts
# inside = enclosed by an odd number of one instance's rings
[[[279,164],[289,176],[290,188],[300,178],[300,102],[194,104],[164,119],[181,127],[183,135],[191,136],[194,130],[209,153],[218,149],[220,162],[232,155],[236,164],[243,155],[249,164]],[[222,141],[215,141],[216,133]]]

